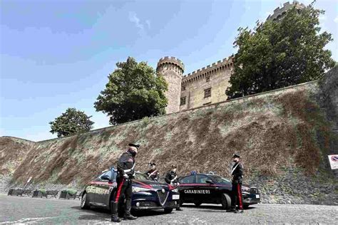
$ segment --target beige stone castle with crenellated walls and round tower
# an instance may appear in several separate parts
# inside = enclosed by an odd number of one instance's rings
[[[298,1],[292,4],[286,2],[282,8],[275,9],[274,14],[270,15],[267,20],[280,20],[293,6],[297,9],[305,7]],[[168,82],[166,113],[189,110],[227,100],[225,90],[230,85],[229,80],[233,70],[233,56],[223,58],[222,61],[217,61],[187,75],[183,75],[184,64],[180,59],[169,56],[161,58],[158,61],[156,72],[163,75]]]

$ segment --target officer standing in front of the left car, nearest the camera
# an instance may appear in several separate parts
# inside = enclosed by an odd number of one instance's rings
[[[118,201],[125,194],[126,205],[123,219],[136,219],[137,217],[130,214],[131,197],[133,195],[132,179],[134,177],[135,156],[138,153],[140,145],[129,144],[128,150],[124,152],[118,159],[118,175],[116,182],[118,183],[115,192],[114,201],[111,202],[111,221],[121,222],[118,217]],[[122,202],[121,202],[122,203]]]

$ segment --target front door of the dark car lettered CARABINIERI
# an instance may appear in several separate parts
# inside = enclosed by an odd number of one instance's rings
[[[215,184],[207,181],[212,181],[212,179],[205,174],[196,175],[195,199],[198,200],[197,202],[212,202],[215,198]]]

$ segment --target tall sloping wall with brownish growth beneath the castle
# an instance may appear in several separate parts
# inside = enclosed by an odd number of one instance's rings
[[[9,185],[22,186],[33,177],[32,185],[40,187],[80,187],[116,165],[135,141],[142,145],[136,164],[141,172],[155,161],[162,176],[178,164],[181,176],[197,170],[230,178],[231,155],[238,152],[245,183],[260,188],[263,202],[337,205],[338,179],[327,158],[337,154],[338,135],[332,128],[337,117],[329,117],[337,109],[332,105],[337,103],[337,78],[334,68],[319,83],[35,142]],[[13,142],[2,142],[4,149],[18,152],[21,145]],[[8,180],[4,178],[0,189],[6,189]]]

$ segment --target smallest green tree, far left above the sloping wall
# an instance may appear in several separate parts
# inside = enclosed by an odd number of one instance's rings
[[[56,133],[58,137],[76,135],[80,132],[86,132],[93,128],[94,122],[90,120],[84,112],[76,108],[68,108],[61,116],[57,117],[51,125],[51,133]]]

